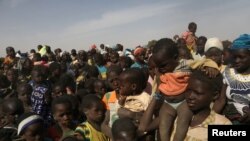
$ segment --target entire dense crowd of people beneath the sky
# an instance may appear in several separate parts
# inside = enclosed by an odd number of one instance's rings
[[[0,141],[205,141],[208,125],[249,125],[250,35],[196,30],[134,49],[7,47]]]

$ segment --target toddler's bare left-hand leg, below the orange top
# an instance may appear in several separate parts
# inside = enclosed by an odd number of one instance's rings
[[[167,103],[163,103],[160,109],[159,132],[161,141],[169,141],[172,127],[177,113],[176,110]]]

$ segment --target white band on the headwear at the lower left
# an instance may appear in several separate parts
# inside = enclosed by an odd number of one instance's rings
[[[39,115],[30,115],[23,119],[19,124],[18,124],[18,129],[17,129],[17,134],[20,135],[20,133],[25,130],[27,127],[34,123],[38,122],[43,122],[43,119]]]

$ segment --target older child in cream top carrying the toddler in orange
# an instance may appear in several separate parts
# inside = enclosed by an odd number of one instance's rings
[[[184,140],[208,140],[208,125],[231,124],[227,118],[210,109],[211,102],[219,97],[221,88],[221,74],[213,79],[209,78],[204,71],[197,70],[191,74],[185,99],[193,112],[193,117]],[[175,128],[172,135],[174,134]]]

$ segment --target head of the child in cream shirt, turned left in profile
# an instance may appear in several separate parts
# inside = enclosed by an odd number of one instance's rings
[[[131,68],[123,71],[119,80],[119,94],[124,96],[142,93],[147,84],[143,71],[137,68]]]

